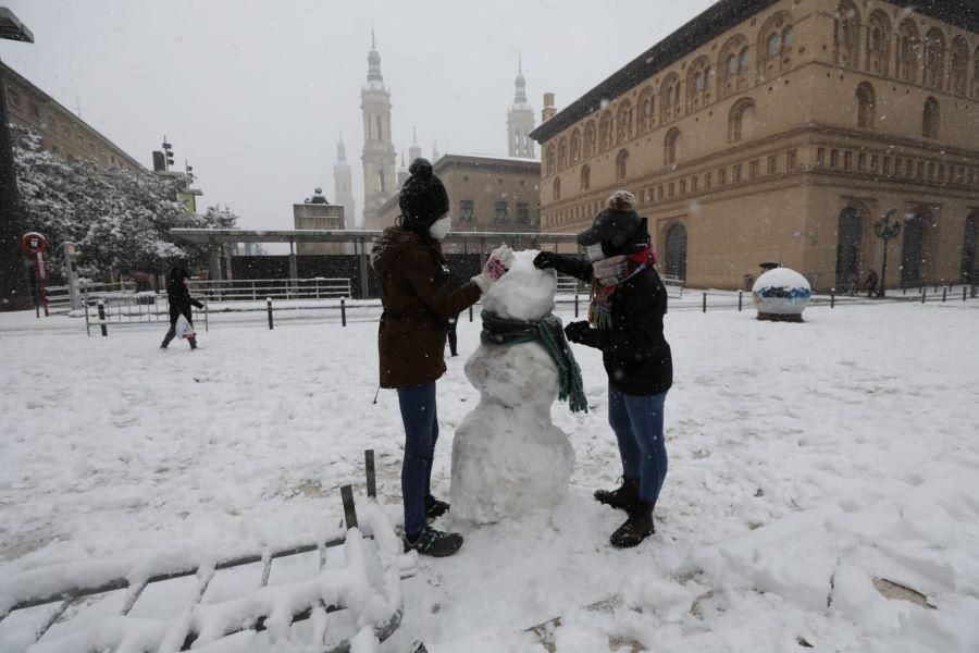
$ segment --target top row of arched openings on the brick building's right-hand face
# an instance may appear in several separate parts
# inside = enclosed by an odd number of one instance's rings
[[[979,99],[979,48],[972,56],[969,79],[969,45],[963,36],[951,44],[939,27],[924,36],[912,17],[894,30],[888,14],[876,9],[863,21],[853,0],[842,0],[835,15],[835,58],[840,65],[892,75],[903,82]]]

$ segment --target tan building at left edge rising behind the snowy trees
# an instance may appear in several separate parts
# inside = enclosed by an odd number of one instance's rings
[[[67,161],[92,158],[102,169],[117,165],[133,171],[146,171],[146,168],[122,148],[26,77],[4,63],[0,63],[0,67],[7,87],[10,122],[40,136],[42,149]]]

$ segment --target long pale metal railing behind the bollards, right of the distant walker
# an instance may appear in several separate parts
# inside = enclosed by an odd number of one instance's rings
[[[235,279],[231,281],[190,281],[190,294],[210,301],[262,301],[273,299],[349,298],[349,279]]]

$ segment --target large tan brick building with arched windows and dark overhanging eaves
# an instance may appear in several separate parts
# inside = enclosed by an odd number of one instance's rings
[[[549,102],[545,101],[545,104]],[[818,289],[979,266],[979,12],[967,0],[720,0],[545,122],[542,227],[633,190],[660,267],[742,287],[781,260]]]

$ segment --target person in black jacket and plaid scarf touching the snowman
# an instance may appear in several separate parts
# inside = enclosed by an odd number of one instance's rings
[[[667,473],[664,407],[673,380],[662,333],[667,293],[631,193],[614,193],[578,244],[588,260],[542,251],[534,264],[592,283],[588,320],[565,332],[573,343],[600,349],[608,373],[608,421],[618,439],[622,485],[598,490],[595,498],[625,510],[625,522],[610,538],[612,546],[625,549],[655,532],[653,509]]]

